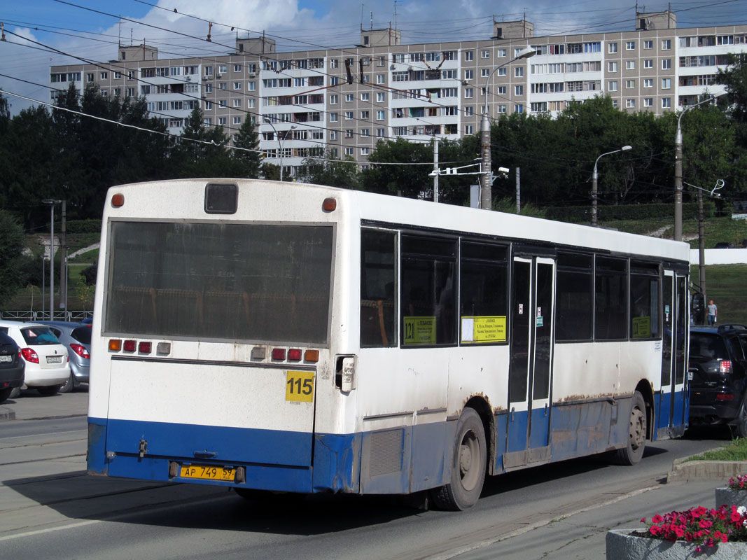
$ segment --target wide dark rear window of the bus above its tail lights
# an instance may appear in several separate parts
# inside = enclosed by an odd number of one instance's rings
[[[114,222],[106,332],[326,344],[332,225]]]

